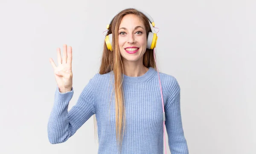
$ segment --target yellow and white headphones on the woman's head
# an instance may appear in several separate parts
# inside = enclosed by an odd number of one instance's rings
[[[146,12],[144,11],[140,11],[141,13],[143,13],[149,20],[149,22],[151,23],[151,25],[155,26],[154,24],[154,20],[152,19],[152,17],[147,14]],[[112,22],[113,18],[111,19],[111,22]],[[109,28],[109,25],[111,24],[111,22],[109,22],[109,24],[107,25],[107,29]],[[152,31],[152,28],[151,28],[151,31]],[[112,34],[109,34],[105,37],[105,42],[106,42],[106,45],[107,45],[107,48],[108,50],[111,50],[113,51],[113,48],[112,48]],[[147,48],[148,49],[154,49],[157,45],[157,34],[156,33],[152,33],[152,32],[148,32],[148,38],[147,38]]]

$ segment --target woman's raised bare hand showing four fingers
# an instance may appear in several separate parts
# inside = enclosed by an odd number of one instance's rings
[[[73,85],[73,73],[72,73],[72,47],[63,45],[63,58],[61,58],[61,49],[57,48],[58,67],[53,62],[52,58],[49,59],[54,69],[55,80],[57,82],[60,92],[71,91]]]

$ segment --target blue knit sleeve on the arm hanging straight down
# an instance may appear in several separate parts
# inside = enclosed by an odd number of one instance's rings
[[[180,113],[180,87],[176,84],[173,87],[175,92],[167,99],[166,105],[166,132],[168,134],[169,148],[172,154],[189,154],[186,139],[184,137],[181,113]]]

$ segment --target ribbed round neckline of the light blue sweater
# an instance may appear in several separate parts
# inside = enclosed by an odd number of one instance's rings
[[[125,83],[137,83],[137,82],[143,82],[143,81],[147,81],[148,79],[152,78],[152,76],[154,75],[156,71],[154,70],[153,67],[148,67],[148,71],[143,74],[142,76],[126,76],[125,74],[123,74],[124,77],[124,82]]]

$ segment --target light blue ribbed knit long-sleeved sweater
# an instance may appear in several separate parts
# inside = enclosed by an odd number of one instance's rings
[[[126,117],[122,154],[163,154],[163,107],[157,71],[149,67],[143,76],[122,76]],[[160,72],[159,76],[170,151],[172,154],[189,154],[180,113],[180,86],[174,76]],[[113,81],[113,71],[102,75],[96,73],[70,111],[68,104],[73,97],[73,87],[65,93],[61,93],[57,87],[48,121],[49,142],[56,144],[67,141],[96,114],[98,154],[117,154]]]

